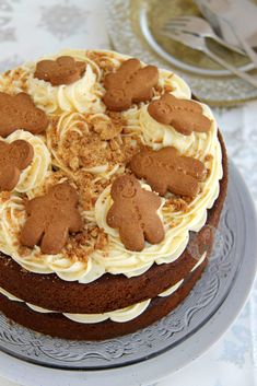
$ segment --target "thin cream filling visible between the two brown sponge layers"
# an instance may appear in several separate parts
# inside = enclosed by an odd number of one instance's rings
[[[197,264],[195,265],[195,267],[191,269],[191,272],[197,269],[197,267],[199,267],[203,260],[206,259],[207,253],[205,253],[200,259],[197,261]],[[171,288],[168,288],[167,290],[163,291],[162,293],[160,293],[157,296],[160,297],[166,297],[172,295],[175,291],[177,291],[179,289],[179,286],[182,285],[182,283],[184,282],[184,279],[179,280],[176,284],[172,285]],[[49,311],[46,308],[42,308],[38,307],[34,304],[31,303],[26,303],[24,301],[22,301],[21,299],[12,295],[10,292],[3,290],[2,288],[0,288],[0,293],[8,297],[10,301],[14,301],[14,302],[20,302],[20,303],[25,303],[31,309],[37,312],[37,313],[44,313],[44,314],[49,314],[49,313],[56,313],[55,311]],[[77,323],[83,323],[83,324],[90,324],[90,323],[101,323],[107,319],[110,319],[116,323],[126,323],[129,320],[135,319],[136,317],[138,317],[139,315],[141,315],[150,305],[151,303],[151,299],[148,299],[144,302],[140,302],[140,303],[136,303],[133,305],[130,305],[128,307],[125,308],[120,308],[120,309],[116,309],[116,311],[112,311],[108,313],[103,313],[103,314],[69,314],[69,313],[63,313],[62,315],[66,316],[68,319],[71,319],[73,321]]]

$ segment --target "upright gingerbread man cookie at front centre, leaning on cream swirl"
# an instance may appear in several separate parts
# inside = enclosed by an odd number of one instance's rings
[[[114,203],[107,213],[107,224],[119,230],[119,236],[129,250],[142,250],[144,239],[159,244],[164,238],[164,229],[157,209],[161,198],[153,191],[141,188],[131,175],[118,177],[112,186]]]

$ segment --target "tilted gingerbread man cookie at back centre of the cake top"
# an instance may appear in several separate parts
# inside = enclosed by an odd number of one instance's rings
[[[103,102],[110,110],[126,110],[132,103],[151,100],[157,79],[155,66],[141,68],[138,59],[126,60],[115,73],[105,77],[106,94]]]

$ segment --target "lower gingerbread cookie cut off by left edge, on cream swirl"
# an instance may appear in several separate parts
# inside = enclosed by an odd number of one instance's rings
[[[15,188],[21,172],[31,164],[33,155],[33,147],[24,140],[10,144],[0,142],[0,191]]]

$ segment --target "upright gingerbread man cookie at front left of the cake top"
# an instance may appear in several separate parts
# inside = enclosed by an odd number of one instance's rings
[[[46,196],[30,200],[21,243],[31,248],[40,244],[43,254],[60,253],[69,233],[79,232],[82,227],[78,202],[77,191],[68,183],[55,185]]]

